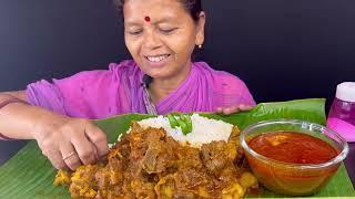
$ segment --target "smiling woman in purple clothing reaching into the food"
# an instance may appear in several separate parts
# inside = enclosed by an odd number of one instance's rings
[[[245,84],[191,62],[204,42],[201,0],[121,0],[124,39],[134,61],[0,94],[2,139],[36,139],[55,168],[75,169],[108,153],[89,118],[123,113],[231,114],[255,105]]]

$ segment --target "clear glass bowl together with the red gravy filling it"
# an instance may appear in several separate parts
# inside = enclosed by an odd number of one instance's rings
[[[258,181],[276,193],[307,196],[324,187],[348,154],[332,129],[303,121],[265,121],[240,136]]]

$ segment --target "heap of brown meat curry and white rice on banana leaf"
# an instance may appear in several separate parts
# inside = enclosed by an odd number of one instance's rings
[[[196,114],[186,117],[181,118],[191,122],[189,134],[163,116],[133,122],[104,161],[59,170],[54,185],[68,186],[72,198],[98,199],[242,198],[257,190],[239,150],[239,128]]]

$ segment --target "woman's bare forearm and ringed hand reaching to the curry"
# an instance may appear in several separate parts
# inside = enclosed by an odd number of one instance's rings
[[[11,98],[27,102],[24,91],[0,93],[0,104]],[[14,139],[36,139],[55,168],[75,169],[108,153],[105,135],[88,119],[27,103],[10,103],[0,108],[0,133]]]

